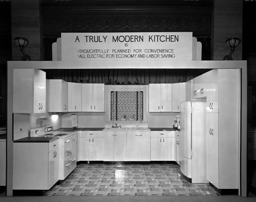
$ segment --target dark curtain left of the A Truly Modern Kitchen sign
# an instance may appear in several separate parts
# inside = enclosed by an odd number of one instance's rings
[[[56,42],[60,36],[43,36],[44,60],[52,61],[52,43]]]

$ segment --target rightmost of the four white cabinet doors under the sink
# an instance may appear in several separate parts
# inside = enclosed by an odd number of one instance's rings
[[[150,132],[139,132],[139,161],[150,161]]]

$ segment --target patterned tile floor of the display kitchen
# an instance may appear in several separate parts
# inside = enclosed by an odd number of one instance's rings
[[[188,183],[174,164],[80,164],[45,196],[219,196]]]

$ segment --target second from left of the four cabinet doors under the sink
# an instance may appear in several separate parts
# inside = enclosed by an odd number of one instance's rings
[[[115,133],[115,161],[126,161],[126,131]]]

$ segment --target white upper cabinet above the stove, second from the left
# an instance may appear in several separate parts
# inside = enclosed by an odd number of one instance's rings
[[[68,112],[68,82],[61,79],[47,79],[47,111]]]

